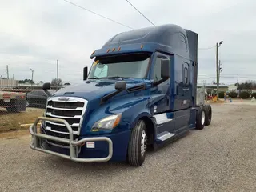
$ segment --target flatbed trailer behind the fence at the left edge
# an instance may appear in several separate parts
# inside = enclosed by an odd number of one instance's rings
[[[0,91],[0,107],[12,113],[26,111],[26,94]]]

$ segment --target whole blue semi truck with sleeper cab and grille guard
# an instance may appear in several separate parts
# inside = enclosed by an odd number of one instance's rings
[[[30,126],[33,150],[74,162],[141,166],[157,149],[210,125],[197,105],[198,34],[167,24],[116,34],[90,58],[83,82],[50,94]],[[39,131],[37,124],[41,122]]]

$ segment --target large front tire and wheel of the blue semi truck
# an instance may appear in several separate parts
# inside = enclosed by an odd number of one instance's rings
[[[142,166],[146,156],[146,123],[139,120],[130,135],[127,162],[130,166]]]

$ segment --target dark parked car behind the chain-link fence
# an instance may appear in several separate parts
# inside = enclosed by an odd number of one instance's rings
[[[56,90],[49,90],[50,94],[54,94]],[[48,95],[43,90],[32,90],[26,94],[26,106],[37,106],[46,108]]]

